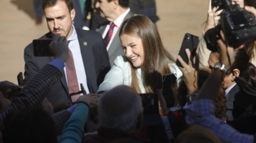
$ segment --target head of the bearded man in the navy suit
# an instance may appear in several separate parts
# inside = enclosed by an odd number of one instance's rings
[[[73,33],[72,22],[76,14],[75,10],[69,9],[65,1],[57,1],[56,5],[44,9],[48,29],[58,36],[69,38]]]

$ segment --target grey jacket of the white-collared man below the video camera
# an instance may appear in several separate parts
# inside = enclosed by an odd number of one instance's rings
[[[238,91],[240,91],[240,87],[238,87],[238,85],[235,85],[229,91],[229,93],[227,93],[227,96],[226,96],[227,102],[225,103],[225,106],[227,107],[227,112],[226,112],[227,121],[234,120],[233,118],[234,99]]]

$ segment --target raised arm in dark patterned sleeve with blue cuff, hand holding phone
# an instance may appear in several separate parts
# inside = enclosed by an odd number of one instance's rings
[[[1,113],[0,119],[5,119],[6,115],[14,110],[39,108],[52,85],[61,79],[61,69],[64,67],[64,62],[67,59],[65,37],[54,37],[50,44],[50,49],[56,59],[46,64],[46,66],[25,85],[22,91],[20,91],[18,98],[13,100],[3,113]]]

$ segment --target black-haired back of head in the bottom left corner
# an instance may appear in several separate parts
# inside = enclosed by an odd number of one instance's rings
[[[3,142],[57,143],[54,121],[41,109],[19,110],[7,115]]]

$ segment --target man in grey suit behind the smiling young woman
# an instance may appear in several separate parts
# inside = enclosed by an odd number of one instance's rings
[[[129,0],[100,0],[97,1],[95,7],[99,9],[101,17],[106,18],[109,21],[96,29],[96,31],[101,33],[104,39],[106,39],[106,35],[108,35],[110,25],[112,23],[115,25],[112,37],[110,38],[109,43],[106,44],[110,64],[112,66],[116,56],[124,54],[123,47],[121,47],[121,41],[119,39],[121,24],[124,20],[130,18],[134,14],[129,8]]]

